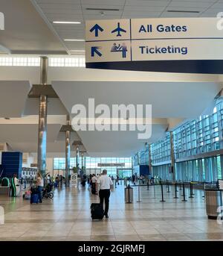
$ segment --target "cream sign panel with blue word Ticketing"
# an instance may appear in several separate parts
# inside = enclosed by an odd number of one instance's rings
[[[222,60],[223,40],[132,41],[132,60]]]

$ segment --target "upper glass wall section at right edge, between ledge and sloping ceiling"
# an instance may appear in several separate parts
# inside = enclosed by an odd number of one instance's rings
[[[175,158],[182,158],[223,149],[223,102],[210,116],[200,116],[173,131]]]

